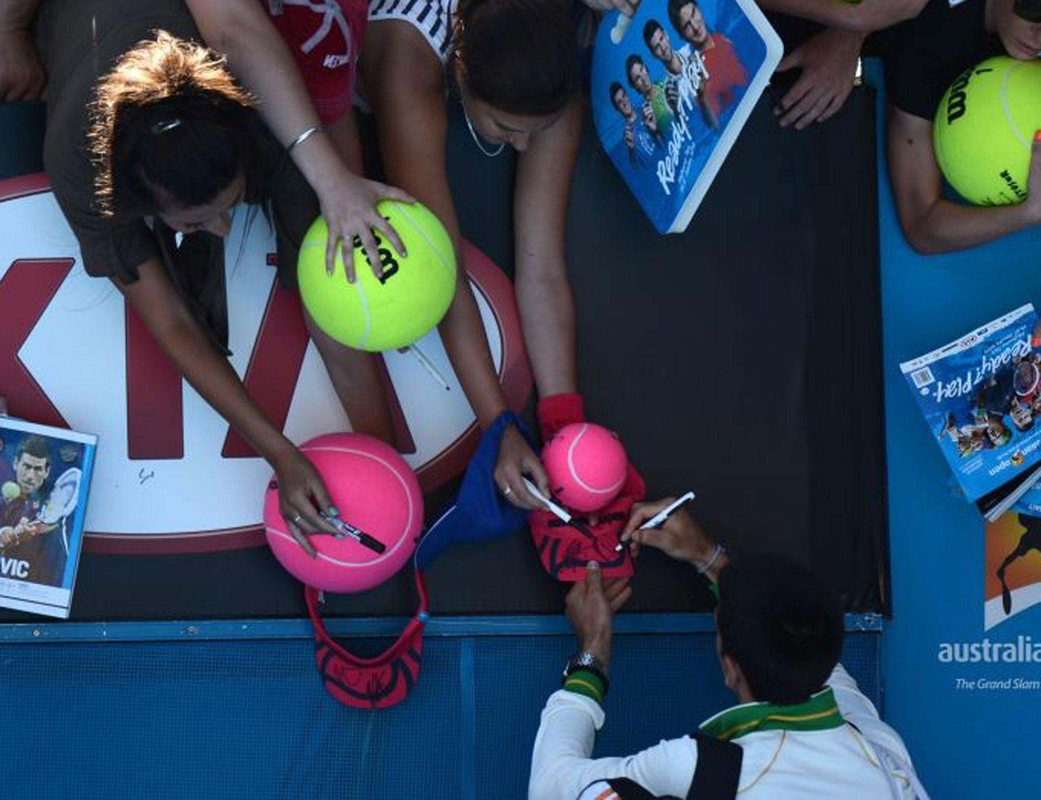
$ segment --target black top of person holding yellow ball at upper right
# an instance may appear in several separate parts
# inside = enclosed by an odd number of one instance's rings
[[[985,26],[986,0],[930,0],[913,20],[880,36],[889,100],[902,111],[932,120],[947,86],[963,70],[1005,52]]]

